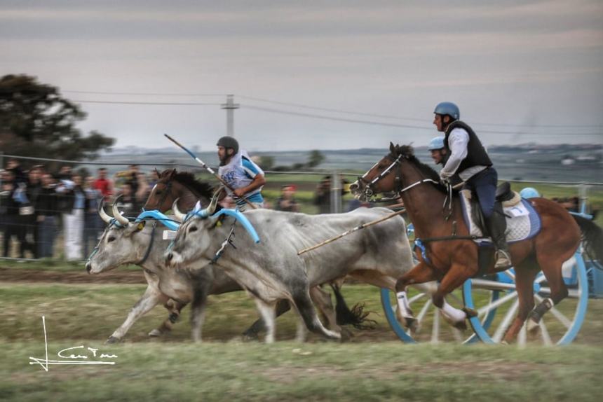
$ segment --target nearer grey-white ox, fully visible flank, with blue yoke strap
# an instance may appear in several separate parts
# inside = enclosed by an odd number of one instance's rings
[[[215,257],[229,236],[232,216],[212,216],[215,197],[203,211],[198,209],[177,230],[166,251],[168,265],[203,265]],[[179,218],[184,215],[173,207]],[[368,284],[394,290],[396,280],[413,267],[412,251],[400,216],[370,226],[323,247],[297,255],[297,251],[335,235],[391,214],[386,208],[360,208],[347,214],[306,215],[256,209],[245,212],[261,239],[255,244],[245,228],[236,223],[235,247],[226,247],[215,266],[221,268],[255,299],[266,324],[266,342],[273,342],[275,306],[286,299],[301,317],[298,334],[305,329],[339,339],[340,333],[320,323],[309,289],[351,275]],[[430,289],[425,286],[422,289]],[[405,314],[407,317],[409,314]]]

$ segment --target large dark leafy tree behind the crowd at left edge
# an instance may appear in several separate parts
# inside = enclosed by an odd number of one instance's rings
[[[115,139],[97,131],[83,136],[76,124],[84,118],[80,106],[61,97],[52,85],[26,75],[0,78],[0,149],[6,154],[97,158]]]

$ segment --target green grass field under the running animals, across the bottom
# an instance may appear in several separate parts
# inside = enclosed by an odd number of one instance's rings
[[[202,344],[189,340],[188,309],[171,334],[147,333],[166,317],[156,307],[124,342],[103,345],[144,285],[0,283],[0,395],[6,401],[595,401],[602,385],[603,300],[591,300],[585,326],[569,347],[405,345],[384,321],[376,288],[346,285],[363,301],[374,329],[351,329],[347,343],[292,342],[293,314],[277,321],[274,345],[240,342],[257,317],[244,293],[210,296]],[[30,366],[86,345],[118,356],[115,366]]]

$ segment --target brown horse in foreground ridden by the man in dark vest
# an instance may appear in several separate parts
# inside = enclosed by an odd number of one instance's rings
[[[435,170],[419,162],[411,146],[390,143],[390,153],[359,177],[350,190],[360,198],[388,191],[400,193],[416,237],[424,239],[428,261],[417,252],[419,263],[398,279],[396,291],[405,291],[410,284],[439,280],[433,304],[441,308],[448,293],[477,275],[477,244],[469,237],[459,197],[453,195],[452,209],[448,204],[442,207],[447,199],[447,188],[440,185]],[[520,307],[505,334],[506,342],[515,339],[528,317],[538,323],[545,312],[567,296],[561,268],[564,261],[574,255],[582,235],[599,261],[603,261],[603,230],[595,223],[572,216],[556,202],[544,198],[530,201],[541,217],[541,231],[529,240],[510,244]],[[534,308],[532,283],[540,270],[548,281],[551,296]],[[494,258],[491,272],[494,272]],[[465,310],[465,313],[467,316],[473,312]],[[464,324],[466,318],[460,321]]]

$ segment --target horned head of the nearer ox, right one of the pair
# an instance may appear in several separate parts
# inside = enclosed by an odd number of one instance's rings
[[[219,193],[222,187],[214,193],[210,205],[201,209],[198,202],[194,209],[188,214],[178,210],[177,201],[172,205],[176,219],[182,221],[178,228],[176,237],[165,251],[165,265],[176,266],[188,264],[203,257],[205,251],[212,244],[212,230],[219,223],[219,217],[212,216],[217,207]]]

